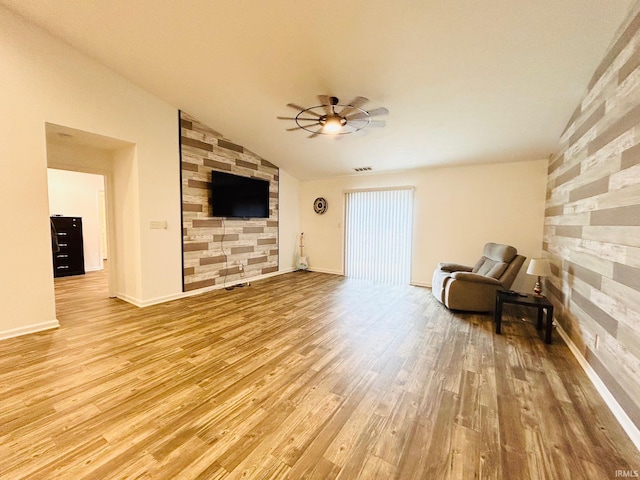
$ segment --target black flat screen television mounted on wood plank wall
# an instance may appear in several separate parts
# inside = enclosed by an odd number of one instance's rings
[[[211,212],[214,217],[269,218],[269,181],[213,170]]]

